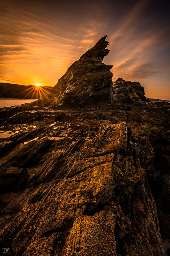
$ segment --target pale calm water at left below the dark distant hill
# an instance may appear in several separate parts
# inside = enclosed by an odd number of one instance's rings
[[[0,98],[0,107],[11,107],[11,106],[17,106],[24,103],[30,103],[37,99],[13,99],[13,98]]]

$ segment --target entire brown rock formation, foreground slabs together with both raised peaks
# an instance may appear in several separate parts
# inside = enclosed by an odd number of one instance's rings
[[[112,84],[107,44],[74,62],[45,106],[1,109],[1,137],[18,131],[0,141],[12,255],[170,255],[170,104]]]

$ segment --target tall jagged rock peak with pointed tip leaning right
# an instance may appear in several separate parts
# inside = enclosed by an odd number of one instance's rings
[[[102,63],[109,53],[105,49],[107,36],[102,37],[92,48],[75,61],[54,86],[56,104],[95,105],[104,107],[109,103],[112,84],[112,65]]]

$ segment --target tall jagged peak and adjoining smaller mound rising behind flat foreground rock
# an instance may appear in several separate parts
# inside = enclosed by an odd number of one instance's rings
[[[105,49],[108,45],[106,37],[102,37],[68,68],[47,97],[31,105],[106,108],[110,104],[129,104],[137,100],[148,102],[144,87],[139,82],[127,82],[122,78],[112,82],[113,73],[109,70],[113,65],[102,62],[109,53]]]

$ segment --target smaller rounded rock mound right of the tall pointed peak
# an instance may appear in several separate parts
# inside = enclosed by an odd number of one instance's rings
[[[118,78],[113,82],[111,103],[130,103],[131,101],[149,101],[145,96],[144,87],[139,82],[125,81]]]

